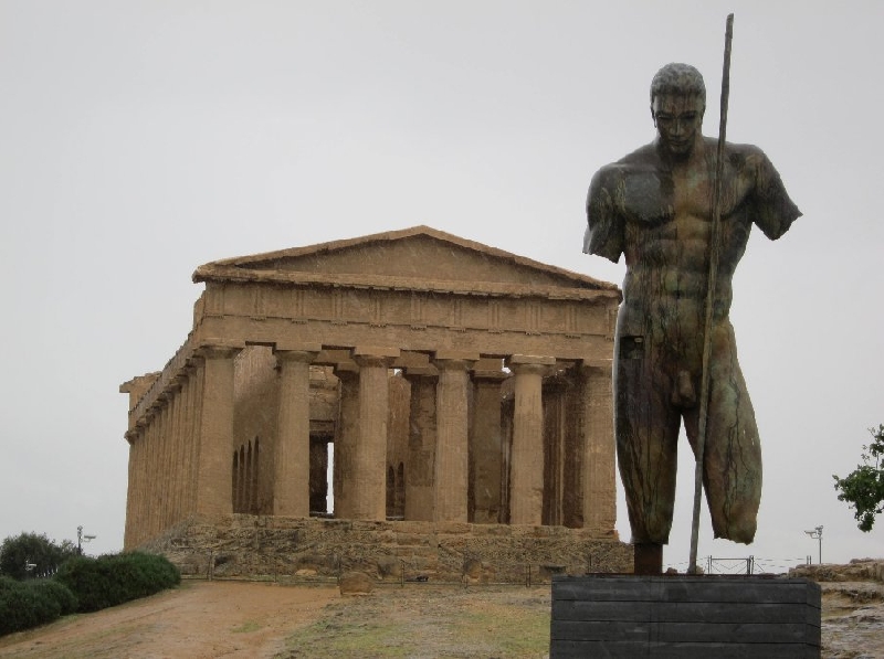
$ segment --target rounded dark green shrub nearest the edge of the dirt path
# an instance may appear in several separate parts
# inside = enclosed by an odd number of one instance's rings
[[[81,612],[116,606],[181,583],[178,568],[165,556],[139,552],[71,559],[56,578],[74,593]]]

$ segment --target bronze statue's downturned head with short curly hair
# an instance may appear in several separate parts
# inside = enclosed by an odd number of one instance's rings
[[[651,118],[660,142],[675,157],[686,157],[701,136],[706,85],[690,64],[666,64],[651,81]]]

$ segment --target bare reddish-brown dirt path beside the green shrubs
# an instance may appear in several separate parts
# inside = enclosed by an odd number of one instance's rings
[[[337,587],[185,582],[180,588],[0,638],[0,657],[273,657],[340,599]]]

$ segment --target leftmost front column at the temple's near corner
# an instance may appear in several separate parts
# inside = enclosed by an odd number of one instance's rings
[[[231,348],[204,347],[196,511],[233,512],[233,358]]]

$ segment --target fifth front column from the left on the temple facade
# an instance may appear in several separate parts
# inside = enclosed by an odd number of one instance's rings
[[[514,354],[507,365],[515,373],[509,523],[543,523],[544,509],[544,374],[551,357]]]

